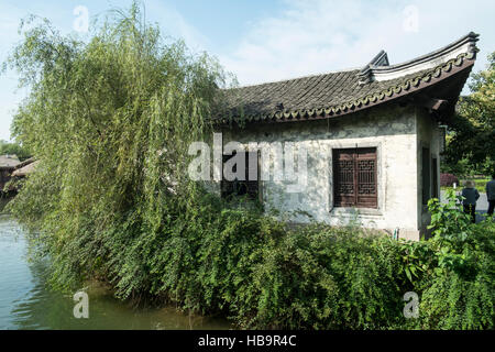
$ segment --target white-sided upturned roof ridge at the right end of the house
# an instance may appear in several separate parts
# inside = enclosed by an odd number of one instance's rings
[[[479,52],[476,47],[479,36],[480,34],[470,32],[468,35],[440,50],[398,65],[389,65],[386,53],[382,51],[358,74],[359,82],[360,85],[365,85],[375,80],[391,80],[420,70],[431,69],[450,59],[457,58],[460,54],[469,54],[475,58]],[[385,55],[385,58],[383,58],[383,55]],[[387,65],[383,64],[385,59]]]

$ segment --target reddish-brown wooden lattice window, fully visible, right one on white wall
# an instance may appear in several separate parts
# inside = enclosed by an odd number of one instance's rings
[[[336,207],[377,208],[376,148],[333,150]]]

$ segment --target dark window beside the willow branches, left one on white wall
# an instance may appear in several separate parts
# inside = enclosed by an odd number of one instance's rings
[[[258,172],[258,153],[257,152],[245,152],[242,153],[243,157],[245,157],[245,169],[244,169],[244,179],[234,179],[227,180],[222,177],[221,182],[221,196],[222,198],[231,198],[233,196],[248,196],[250,199],[258,199],[260,195],[260,172]],[[223,155],[223,165],[231,158],[233,155]],[[235,166],[237,167],[237,166]],[[235,173],[237,169],[233,169]],[[250,172],[251,170],[251,172]],[[250,178],[251,176],[255,176]]]

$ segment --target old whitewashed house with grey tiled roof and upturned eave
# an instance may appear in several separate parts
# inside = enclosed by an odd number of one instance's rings
[[[427,202],[440,193],[444,125],[474,65],[476,41],[470,33],[403,64],[391,65],[381,52],[361,69],[228,90],[229,118],[219,123],[223,161],[232,157],[226,146],[238,141],[251,152],[246,169],[256,172],[246,180],[223,177],[218,190],[258,198],[295,222],[356,221],[418,240],[430,221]],[[260,150],[288,142],[307,152],[306,174],[260,177],[287,163],[261,157]],[[301,191],[288,190],[302,178]]]

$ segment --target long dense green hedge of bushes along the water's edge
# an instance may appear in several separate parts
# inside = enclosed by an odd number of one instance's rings
[[[50,244],[54,283],[97,277],[122,299],[229,316],[240,328],[494,328],[491,221],[472,226],[431,202],[436,237],[403,242],[352,227],[289,229],[197,191],[167,206],[160,231],[136,212],[103,232],[90,213],[79,218],[75,238]],[[420,297],[419,319],[403,316],[407,292]]]

